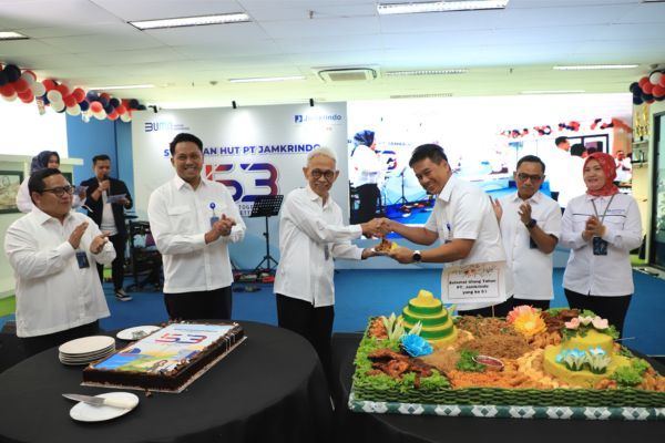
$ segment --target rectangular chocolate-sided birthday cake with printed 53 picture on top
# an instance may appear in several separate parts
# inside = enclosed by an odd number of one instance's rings
[[[236,322],[170,323],[83,370],[83,384],[181,392],[246,339]]]

